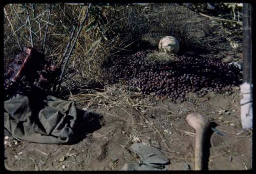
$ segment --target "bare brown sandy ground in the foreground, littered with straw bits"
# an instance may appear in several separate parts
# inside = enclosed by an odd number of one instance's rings
[[[232,94],[209,93],[191,96],[173,104],[168,99],[135,96],[136,106],[120,103],[112,107],[89,107],[88,133],[72,145],[36,144],[8,139],[5,166],[8,170],[120,170],[124,163],[137,161],[127,147],[141,141],[157,147],[170,164],[169,170],[194,168],[195,131],[185,120],[198,112],[209,117],[206,136],[206,166],[209,170],[245,170],[252,168],[252,132],[242,130],[239,90]],[[79,135],[81,136],[81,135]]]

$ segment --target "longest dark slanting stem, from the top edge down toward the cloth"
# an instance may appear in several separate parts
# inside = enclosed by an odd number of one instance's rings
[[[60,74],[60,79],[59,79],[59,85],[58,85],[57,92],[59,91],[59,88],[60,88],[60,85],[61,85],[61,81],[62,81],[62,78],[63,78],[63,74],[64,74],[64,72],[65,72],[65,68],[66,68],[66,66],[67,66],[67,64],[68,64],[68,61],[69,61],[69,58],[70,58],[70,56],[71,56],[71,54],[72,54],[72,52],[73,52],[73,49],[74,49],[74,47],[75,47],[76,41],[77,41],[77,39],[78,39],[78,36],[79,36],[80,32],[82,31],[82,28],[83,28],[83,26],[84,26],[84,23],[86,22],[86,19],[87,19],[87,17],[88,17],[88,14],[89,14],[89,10],[90,10],[91,5],[92,5],[92,4],[90,3],[89,6],[88,6],[88,8],[87,8],[87,12],[86,12],[86,14],[84,15],[84,18],[83,18],[83,20],[82,20],[82,23],[80,24],[80,27],[79,27],[78,32],[77,32],[77,34],[76,34],[75,40],[74,40],[74,42],[73,42],[73,45],[71,46],[69,55],[66,57],[66,59],[65,59],[65,61],[64,61],[64,66],[62,67],[62,70],[61,70],[61,74]]]

